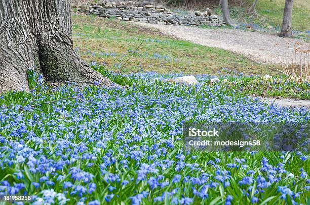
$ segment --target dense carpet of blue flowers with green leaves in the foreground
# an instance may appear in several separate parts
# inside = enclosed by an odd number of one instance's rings
[[[0,96],[1,194],[33,195],[32,204],[310,201],[306,152],[184,151],[181,139],[185,121],[308,122],[308,110],[204,76],[196,86],[157,73],[109,77],[130,87],[48,89],[32,72],[31,93]]]

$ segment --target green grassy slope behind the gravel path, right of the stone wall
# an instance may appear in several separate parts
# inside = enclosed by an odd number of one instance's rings
[[[244,1],[244,5],[229,3],[230,16],[238,23],[240,28],[248,31],[267,32],[272,35],[278,35],[281,31],[285,0],[259,0],[255,13],[248,14],[247,9],[253,4],[254,0]],[[297,0],[293,3],[292,27],[293,37],[310,40],[310,1]],[[214,12],[221,16],[222,11],[215,6]],[[246,24],[242,25],[242,24]],[[254,25],[252,25],[254,24]],[[231,28],[224,26],[223,28]]]

